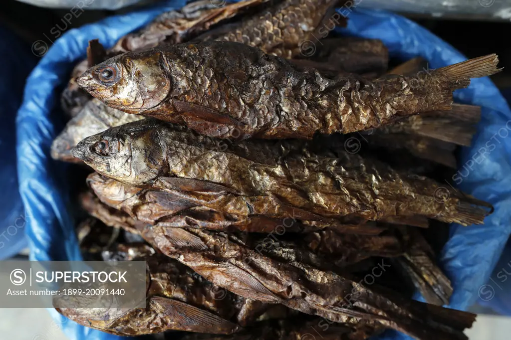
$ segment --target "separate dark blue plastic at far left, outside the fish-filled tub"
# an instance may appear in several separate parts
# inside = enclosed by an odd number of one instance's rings
[[[30,45],[0,26],[0,260],[27,247],[25,214],[16,170],[16,111],[25,79],[36,64]]]

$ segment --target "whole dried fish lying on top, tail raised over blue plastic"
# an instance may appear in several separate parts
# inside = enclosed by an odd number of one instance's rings
[[[454,89],[497,72],[497,63],[490,55],[440,68],[418,85],[400,76],[362,84],[299,71],[241,43],[209,41],[128,52],[90,68],[78,83],[111,107],[213,137],[232,138],[236,130],[241,138],[312,138],[450,109]]]

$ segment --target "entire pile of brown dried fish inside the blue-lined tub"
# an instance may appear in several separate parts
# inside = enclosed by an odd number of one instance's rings
[[[84,256],[147,260],[147,308],[60,313],[119,335],[467,339],[433,246],[492,211],[445,179],[480,115],[452,93],[498,58],[388,70],[381,41],[330,32],[350,6],[197,2],[89,43],[52,157],[87,183]]]

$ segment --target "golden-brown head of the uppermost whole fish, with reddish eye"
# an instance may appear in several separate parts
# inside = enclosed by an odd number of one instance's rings
[[[78,85],[106,105],[129,113],[141,113],[167,98],[171,89],[162,52],[126,52],[93,66]]]

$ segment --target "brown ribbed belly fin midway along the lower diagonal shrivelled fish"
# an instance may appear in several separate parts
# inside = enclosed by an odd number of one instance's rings
[[[266,288],[257,278],[250,273],[247,273],[237,265],[229,263],[227,266],[227,274],[233,277],[231,283],[226,287],[230,292],[241,295],[247,299],[268,302],[268,303],[281,303],[282,299]],[[240,286],[240,283],[244,286]]]

